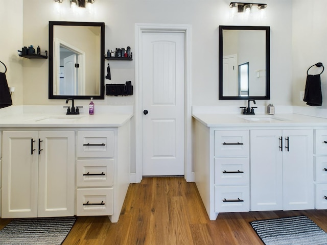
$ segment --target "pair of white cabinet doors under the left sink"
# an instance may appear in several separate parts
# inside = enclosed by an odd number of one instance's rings
[[[75,214],[75,132],[4,131],[2,218]]]

